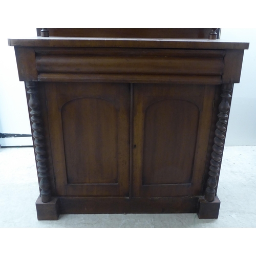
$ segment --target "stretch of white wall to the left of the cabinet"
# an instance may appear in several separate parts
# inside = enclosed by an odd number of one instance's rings
[[[0,133],[31,134],[24,82],[18,79],[8,38],[36,36],[36,29],[4,28],[0,33]],[[0,139],[2,146],[32,145],[31,137]]]

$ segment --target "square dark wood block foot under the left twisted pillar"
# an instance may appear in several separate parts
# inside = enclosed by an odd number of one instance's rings
[[[56,221],[59,218],[58,198],[52,198],[48,203],[43,203],[39,196],[35,202],[38,221]]]

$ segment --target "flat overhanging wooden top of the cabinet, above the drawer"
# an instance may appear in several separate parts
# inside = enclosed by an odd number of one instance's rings
[[[28,37],[8,39],[15,47],[121,47],[172,49],[232,49],[249,48],[248,42],[222,39],[169,39],[169,38],[111,38],[111,37]]]

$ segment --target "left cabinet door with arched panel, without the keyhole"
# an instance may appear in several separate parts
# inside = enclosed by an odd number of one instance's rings
[[[44,83],[58,196],[128,196],[129,83]]]

